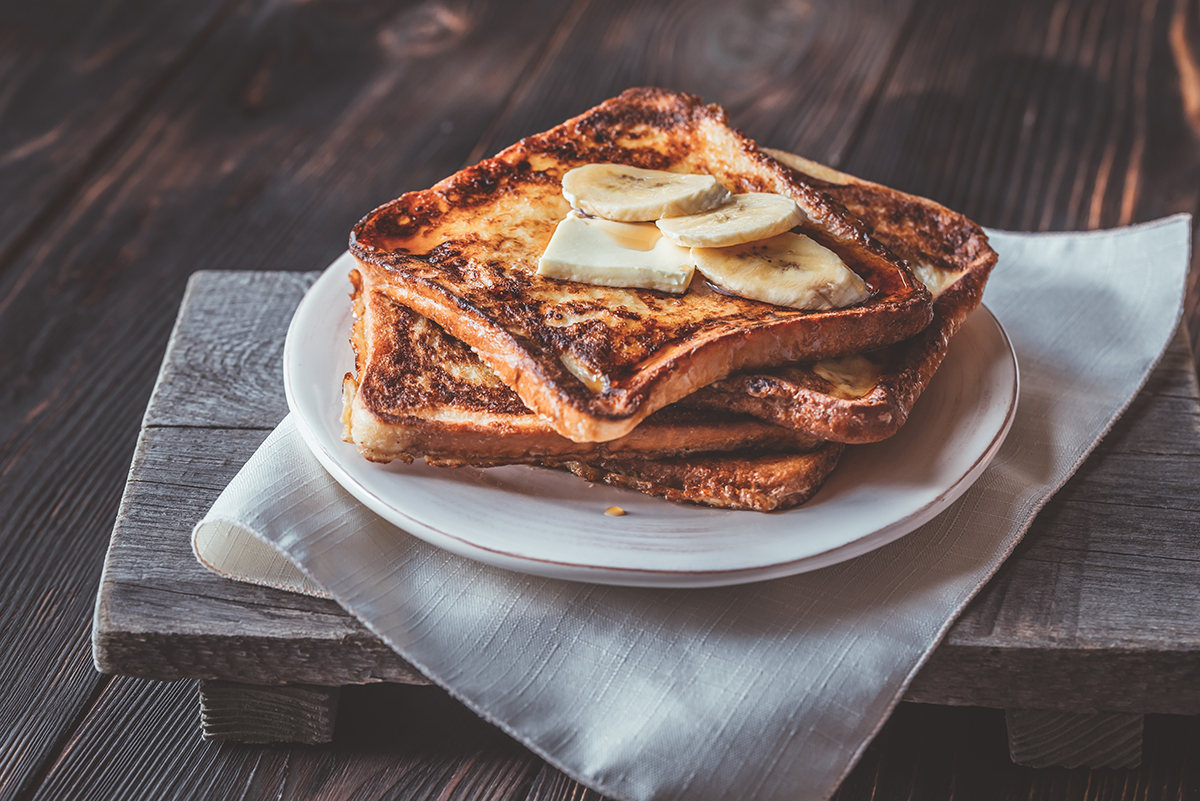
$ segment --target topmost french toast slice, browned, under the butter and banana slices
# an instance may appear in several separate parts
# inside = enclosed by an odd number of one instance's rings
[[[804,312],[713,291],[684,295],[535,273],[570,210],[563,174],[587,163],[710,174],[732,192],[799,205],[799,230],[868,284],[848,308]],[[912,337],[932,302],[904,259],[800,173],[700,98],[632,89],[430,189],[376,209],[350,236],[367,282],[466,342],[527,406],[578,442],[624,436],[738,371],[862,353]]]

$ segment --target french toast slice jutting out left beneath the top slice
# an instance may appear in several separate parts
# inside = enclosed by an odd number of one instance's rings
[[[343,439],[373,462],[535,464],[587,457],[809,451],[817,440],[750,415],[668,408],[610,442],[572,442],[530,411],[462,342],[350,275],[355,372],[343,379]]]

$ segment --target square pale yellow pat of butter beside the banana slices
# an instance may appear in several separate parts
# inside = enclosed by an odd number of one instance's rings
[[[689,248],[654,223],[618,223],[571,211],[558,223],[538,275],[599,287],[638,287],[680,294],[695,271]]]

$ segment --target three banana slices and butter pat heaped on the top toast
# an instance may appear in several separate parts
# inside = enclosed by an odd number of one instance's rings
[[[870,296],[836,253],[787,233],[805,216],[784,195],[731,197],[710,175],[586,164],[563,176],[563,197],[574,209],[540,276],[680,294],[696,269],[733,295],[806,311]]]

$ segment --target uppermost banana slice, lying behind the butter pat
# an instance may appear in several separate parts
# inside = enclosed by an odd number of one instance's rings
[[[584,164],[563,176],[563,197],[576,209],[618,222],[648,222],[708,211],[730,191],[712,175],[683,175],[624,164]]]

